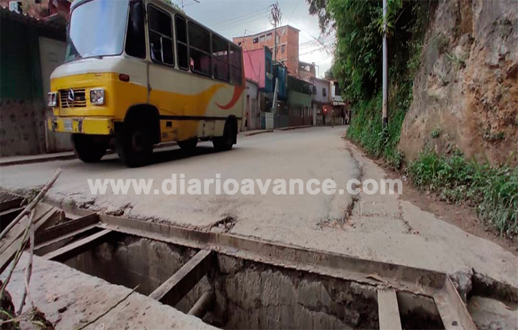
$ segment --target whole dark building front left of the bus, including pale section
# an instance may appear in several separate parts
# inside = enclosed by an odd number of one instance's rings
[[[2,156],[71,149],[69,135],[48,131],[45,125],[51,115],[46,106],[50,74],[64,62],[66,40],[66,19],[59,13],[47,17],[0,7]]]

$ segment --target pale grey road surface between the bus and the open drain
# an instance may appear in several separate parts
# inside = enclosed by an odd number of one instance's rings
[[[239,136],[232,151],[215,153],[210,142],[194,155],[177,147],[160,149],[153,164],[126,168],[116,155],[98,164],[66,160],[5,166],[0,186],[27,190],[42,186],[56,168],[62,175],[49,199],[131,218],[294,244],[311,249],[428,268],[471,278],[473,272],[518,286],[518,260],[497,244],[473,236],[395,195],[163,194],[162,180],[334,179],[338,189],[362,177],[379,181],[386,173],[342,139],[345,127],[314,127]],[[151,194],[93,195],[87,179],[153,179]],[[159,194],[154,194],[158,190]],[[352,207],[354,205],[354,207]],[[347,216],[347,214],[349,214]],[[223,223],[221,221],[223,220]],[[471,283],[471,282],[469,282]],[[466,285],[469,285],[467,283]]]

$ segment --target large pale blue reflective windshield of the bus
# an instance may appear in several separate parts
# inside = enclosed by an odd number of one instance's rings
[[[127,0],[92,0],[72,12],[65,62],[123,51]]]

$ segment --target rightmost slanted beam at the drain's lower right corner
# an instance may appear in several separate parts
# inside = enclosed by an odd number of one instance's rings
[[[446,277],[443,292],[434,295],[434,301],[443,320],[444,329],[477,329],[449,276]]]

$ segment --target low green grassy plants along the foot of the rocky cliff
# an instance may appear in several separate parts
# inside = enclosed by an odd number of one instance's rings
[[[493,167],[488,162],[466,162],[461,153],[446,157],[425,150],[408,164],[415,186],[439,192],[452,203],[468,202],[480,218],[501,235],[518,233],[518,168]]]

